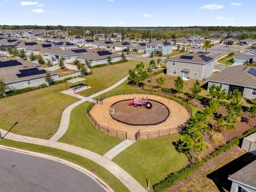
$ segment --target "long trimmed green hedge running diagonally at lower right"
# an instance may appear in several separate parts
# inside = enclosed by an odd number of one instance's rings
[[[222,153],[225,153],[229,149],[235,147],[236,145],[239,144],[239,140],[246,137],[247,135],[250,135],[252,133],[256,132],[256,127],[253,129],[246,131],[242,135],[231,139],[228,141],[225,145],[222,145],[219,147],[217,150],[213,151],[210,155],[204,157],[202,161],[190,164],[186,167],[183,167],[181,170],[173,172],[169,175],[167,175],[166,178],[164,178],[162,181],[159,181],[158,183],[155,183],[153,185],[153,188],[155,191],[165,191],[167,188],[172,187],[175,185],[177,181],[181,181],[183,179],[187,179],[190,174],[193,172],[197,171],[201,167],[205,165],[205,163],[209,162],[211,159],[221,155]]]

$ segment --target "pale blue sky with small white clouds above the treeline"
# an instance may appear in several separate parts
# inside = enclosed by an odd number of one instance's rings
[[[255,7],[254,0],[0,0],[0,25],[256,26]]]

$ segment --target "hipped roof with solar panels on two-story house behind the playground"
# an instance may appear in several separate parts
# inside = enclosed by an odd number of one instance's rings
[[[214,59],[207,55],[197,54],[195,52],[188,52],[188,53],[184,53],[182,55],[177,55],[175,57],[171,57],[169,60],[206,64],[206,63],[213,61]]]

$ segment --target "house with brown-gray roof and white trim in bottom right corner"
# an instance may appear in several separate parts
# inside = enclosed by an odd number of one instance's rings
[[[228,177],[232,181],[230,192],[256,192],[256,160]]]

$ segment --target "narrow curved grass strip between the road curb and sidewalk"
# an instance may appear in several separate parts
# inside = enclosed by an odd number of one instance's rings
[[[19,149],[25,149],[29,151],[35,151],[37,153],[52,155],[55,157],[59,157],[62,159],[65,159],[67,161],[70,161],[72,163],[75,163],[79,166],[84,167],[85,169],[93,172],[96,174],[99,178],[101,178],[103,181],[105,181],[113,190],[115,191],[129,191],[121,181],[119,181],[112,173],[107,171],[102,166],[98,165],[97,163],[94,163],[93,161],[86,159],[82,156],[69,153],[63,150],[54,149],[51,147],[44,147],[24,142],[17,142],[12,141],[8,139],[3,139],[0,141],[0,145],[4,146],[10,146],[15,147]]]

